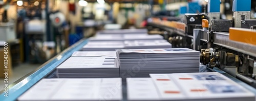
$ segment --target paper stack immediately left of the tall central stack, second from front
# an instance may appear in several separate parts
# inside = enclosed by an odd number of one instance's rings
[[[58,78],[119,77],[113,57],[70,57],[57,66]]]

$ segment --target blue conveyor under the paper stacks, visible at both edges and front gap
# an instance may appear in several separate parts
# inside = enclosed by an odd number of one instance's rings
[[[42,64],[37,70],[31,72],[30,74],[26,75],[25,77],[19,79],[15,83],[9,86],[9,97],[5,97],[4,93],[0,95],[1,100],[16,100],[20,95],[26,92],[29,88],[31,88],[34,84],[36,84],[42,78],[57,78],[56,76],[56,67],[61,64],[63,61],[68,59],[74,51],[78,51],[82,48],[82,46],[87,44],[87,40],[82,40],[77,44],[71,46],[70,48],[66,49],[65,51],[61,52],[51,60],[47,61],[46,63]],[[200,72],[219,72],[231,80],[237,82],[238,84],[244,86],[248,90],[252,91],[256,94],[256,90],[245,84],[244,82],[230,76],[229,74],[219,70],[218,68],[209,69],[206,68],[205,65],[200,65],[199,68]],[[1,91],[3,92],[3,91]],[[123,100],[127,100],[126,97],[126,86],[123,85]]]

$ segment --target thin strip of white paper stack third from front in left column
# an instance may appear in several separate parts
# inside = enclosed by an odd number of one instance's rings
[[[72,57],[109,57],[116,58],[116,51],[75,51]]]

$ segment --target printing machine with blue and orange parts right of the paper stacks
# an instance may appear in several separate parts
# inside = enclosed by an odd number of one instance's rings
[[[250,1],[233,1],[233,20],[219,19],[219,4],[209,1],[208,14],[185,14],[183,23],[153,18],[148,25],[168,31],[174,47],[201,51],[200,62],[208,68],[219,68],[255,88],[256,20],[250,19]]]

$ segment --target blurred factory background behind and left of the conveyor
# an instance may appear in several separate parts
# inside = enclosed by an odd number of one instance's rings
[[[185,13],[207,13],[207,3],[208,0],[2,0],[0,42],[8,43],[10,83],[98,30],[147,28],[148,33],[164,33],[147,26],[147,22],[156,22],[154,17],[168,21],[182,19]],[[221,0],[221,19],[233,19],[232,3]],[[255,0],[251,0],[250,13],[250,19],[256,19]],[[3,54],[4,48],[0,48],[0,57]],[[0,64],[3,62],[0,59]],[[4,78],[3,73],[0,77]]]

